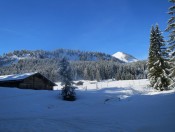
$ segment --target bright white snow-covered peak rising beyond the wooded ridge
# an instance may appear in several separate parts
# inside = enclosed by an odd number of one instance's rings
[[[126,63],[138,61],[138,59],[136,59],[132,55],[129,55],[129,54],[126,54],[126,53],[123,53],[123,52],[117,52],[117,53],[113,54],[112,56],[119,59],[119,60],[121,60],[121,61],[124,61]]]

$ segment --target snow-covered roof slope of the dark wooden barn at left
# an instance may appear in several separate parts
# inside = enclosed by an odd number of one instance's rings
[[[0,76],[0,81],[13,81],[13,80],[22,80],[29,76],[36,74],[37,72],[24,73],[24,74],[12,74],[12,75],[3,75]]]

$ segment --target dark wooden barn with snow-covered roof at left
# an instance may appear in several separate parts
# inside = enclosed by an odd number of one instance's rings
[[[0,76],[1,87],[53,90],[56,84],[38,72]]]

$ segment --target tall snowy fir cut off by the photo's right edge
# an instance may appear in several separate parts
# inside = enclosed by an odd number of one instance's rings
[[[166,31],[169,32],[169,55],[170,55],[170,74],[169,77],[172,79],[170,88],[175,87],[175,0],[170,0],[173,5],[169,8],[169,14],[171,18],[168,20],[168,26]]]

